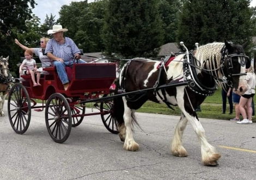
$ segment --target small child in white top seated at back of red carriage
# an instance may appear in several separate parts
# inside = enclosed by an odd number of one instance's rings
[[[31,49],[27,49],[25,51],[25,59],[22,61],[22,64],[20,66],[20,74],[22,74],[22,68],[24,66],[27,66],[27,70],[25,70],[25,75],[31,75],[31,79],[33,81],[33,86],[38,86],[38,85],[41,85],[39,83],[39,80],[40,80],[40,72],[34,72],[37,70],[37,67],[36,67],[36,63],[35,63],[35,60],[32,59],[33,57],[33,52],[31,51]],[[36,80],[37,80],[37,83],[35,82],[35,76],[34,76],[34,73],[36,73]]]

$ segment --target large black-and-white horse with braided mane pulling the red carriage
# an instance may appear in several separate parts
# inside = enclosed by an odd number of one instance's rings
[[[188,85],[114,98],[114,115],[118,122],[120,139],[124,141],[124,149],[139,149],[132,136],[132,125],[137,123],[134,114],[135,110],[150,100],[167,104],[170,108],[172,105],[178,105],[182,111],[170,146],[174,156],[187,156],[187,151],[182,146],[182,136],[189,121],[200,142],[202,163],[217,165],[221,154],[207,141],[195,109],[202,104],[206,96],[214,94],[216,83],[221,86],[223,83],[229,84],[239,95],[247,91],[245,69],[251,62],[244,54],[243,48],[246,46],[226,41],[214,42],[198,47],[193,53],[187,51],[186,54],[170,57],[164,65],[163,62],[150,59],[129,61],[120,71],[115,94],[118,94],[118,89],[120,93],[120,89],[131,92],[170,83],[187,82]]]

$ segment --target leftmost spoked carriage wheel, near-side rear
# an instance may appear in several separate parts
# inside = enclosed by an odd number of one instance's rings
[[[20,83],[14,84],[9,92],[8,116],[15,133],[27,131],[31,120],[31,101],[28,91]]]

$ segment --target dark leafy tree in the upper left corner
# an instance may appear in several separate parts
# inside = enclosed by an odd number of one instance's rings
[[[0,0],[0,56],[9,55],[10,71],[15,71],[19,61],[19,52],[14,39],[17,34],[29,31],[26,21],[32,18],[32,9],[35,6],[34,0]]]

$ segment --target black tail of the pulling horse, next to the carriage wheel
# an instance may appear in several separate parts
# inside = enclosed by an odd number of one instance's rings
[[[114,83],[115,83],[114,94],[117,95],[118,94],[118,89],[120,87],[119,78],[115,79]],[[115,119],[118,122],[118,127],[120,127],[124,123],[124,102],[123,102],[123,98],[122,97],[114,97],[113,102],[114,102],[114,104],[113,104],[114,116],[115,116]]]

